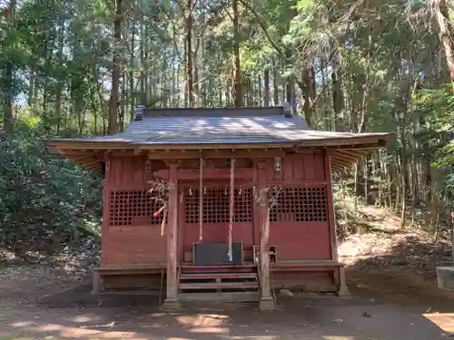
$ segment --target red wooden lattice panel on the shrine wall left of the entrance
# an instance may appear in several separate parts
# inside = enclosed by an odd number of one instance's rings
[[[160,207],[147,190],[112,191],[109,203],[111,226],[131,226],[136,223],[155,225],[163,221],[162,214],[153,216]]]

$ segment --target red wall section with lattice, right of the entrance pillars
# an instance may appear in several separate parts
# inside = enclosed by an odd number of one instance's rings
[[[271,209],[270,245],[278,260],[331,259],[328,183],[322,153],[294,154],[281,171],[267,165],[266,183],[282,185]]]

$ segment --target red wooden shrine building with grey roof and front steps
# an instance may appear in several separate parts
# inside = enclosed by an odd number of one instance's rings
[[[161,287],[167,309],[201,296],[270,309],[278,287],[348,294],[331,172],[389,138],[313,131],[283,107],[139,107],[122,133],[45,143],[104,176],[94,292]]]

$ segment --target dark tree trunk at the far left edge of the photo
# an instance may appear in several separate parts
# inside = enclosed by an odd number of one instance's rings
[[[6,34],[12,39],[15,39],[15,6],[16,0],[10,0],[5,13],[5,19],[8,22],[8,31]],[[15,44],[13,44],[14,46]],[[14,48],[14,47],[13,47]],[[14,81],[14,67],[15,61],[12,56],[7,58],[5,66],[5,89],[2,95],[3,99],[3,112],[4,112],[4,129],[6,132],[13,131],[13,103],[15,100],[15,81]]]

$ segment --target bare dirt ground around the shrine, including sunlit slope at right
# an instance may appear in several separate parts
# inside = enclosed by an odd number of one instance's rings
[[[438,340],[454,338],[454,293],[435,268],[450,265],[447,242],[400,230],[386,211],[362,207],[369,231],[340,240],[351,297],[277,296],[257,304],[158,308],[155,295],[92,296],[87,281],[45,266],[0,268],[0,340]],[[82,266],[84,267],[84,266]],[[75,279],[74,279],[75,278]]]

